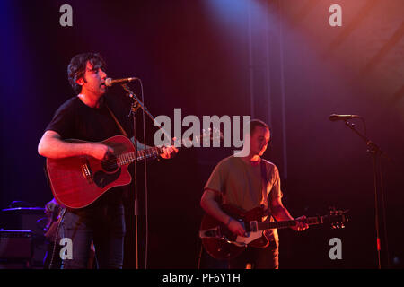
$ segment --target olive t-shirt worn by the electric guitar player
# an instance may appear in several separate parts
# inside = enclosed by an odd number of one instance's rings
[[[267,170],[267,195],[263,196],[261,167],[252,166],[233,155],[220,161],[204,189],[211,189],[222,194],[222,204],[230,204],[250,211],[261,204],[268,206],[271,199],[282,197],[280,178],[277,166],[272,162],[265,162]],[[266,202],[268,200],[268,202]],[[271,218],[271,221],[273,219]],[[277,230],[273,230],[274,239],[278,239]],[[271,233],[271,232],[269,232]]]

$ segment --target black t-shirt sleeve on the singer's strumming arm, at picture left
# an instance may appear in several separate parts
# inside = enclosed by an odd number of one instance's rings
[[[71,101],[57,109],[45,131],[57,132],[63,139],[72,138],[75,129],[75,109]]]

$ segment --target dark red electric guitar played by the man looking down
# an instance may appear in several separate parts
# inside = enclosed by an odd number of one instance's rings
[[[242,237],[234,234],[224,223],[205,214],[200,224],[199,237],[202,239],[206,252],[215,259],[232,259],[239,256],[248,246],[266,248],[269,241],[265,230],[283,229],[296,225],[296,221],[262,222],[262,217],[268,213],[265,213],[261,207],[243,212],[237,207],[224,204],[222,210],[241,222],[248,236]],[[346,213],[347,211],[331,210],[329,215],[308,217],[305,222],[308,225],[328,222],[333,228],[344,228],[344,224],[347,222]]]

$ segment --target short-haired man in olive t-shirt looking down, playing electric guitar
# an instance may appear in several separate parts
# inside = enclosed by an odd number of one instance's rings
[[[267,150],[270,138],[269,127],[264,122],[250,121],[250,134],[244,135],[245,143],[250,144],[250,153],[245,157],[230,156],[220,161],[207,180],[200,204],[207,214],[218,222],[224,223],[228,230],[239,236],[246,236],[246,230],[240,222],[225,213],[221,204],[229,204],[248,212],[264,206],[277,221],[290,221],[294,217],[282,204],[279,172],[275,164],[261,158]],[[262,161],[262,162],[261,162]],[[267,186],[262,188],[261,164],[265,164]],[[264,191],[263,191],[264,190]],[[303,222],[305,216],[297,218],[297,224],[291,227],[302,231],[308,228]],[[248,247],[238,257],[229,260],[229,268],[278,268],[277,230],[265,230],[269,239],[267,248]]]

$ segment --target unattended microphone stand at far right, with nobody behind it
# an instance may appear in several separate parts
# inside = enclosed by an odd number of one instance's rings
[[[390,158],[380,149],[380,147],[370,141],[366,135],[362,135],[359,131],[356,130],[355,125],[344,120],[345,125],[349,127],[352,131],[359,135],[359,137],[364,140],[367,146],[367,151],[373,156],[373,184],[374,184],[374,209],[375,209],[375,229],[376,229],[376,247],[377,247],[377,258],[378,258],[378,268],[382,269],[382,251],[385,252],[385,258],[387,265],[389,267],[389,250],[388,250],[388,242],[387,242],[387,229],[386,229],[386,214],[385,214],[385,206],[384,206],[384,191],[382,187],[382,169],[381,169],[381,158],[384,156],[385,158]],[[380,185],[380,191],[378,190],[378,181]],[[382,200],[382,203],[379,203],[379,199]],[[381,209],[381,211],[379,210]],[[381,222],[380,222],[380,212],[382,212],[382,230],[383,230],[383,244],[381,244]]]

